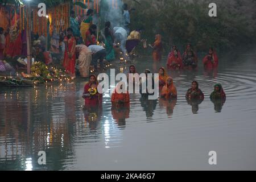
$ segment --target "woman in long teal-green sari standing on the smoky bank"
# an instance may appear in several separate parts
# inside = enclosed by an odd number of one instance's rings
[[[105,23],[105,46],[106,46],[106,60],[111,61],[115,59],[115,52],[113,48],[114,36],[112,30],[110,30],[111,23]]]

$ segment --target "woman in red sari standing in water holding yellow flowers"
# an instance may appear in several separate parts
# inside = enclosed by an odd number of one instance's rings
[[[84,95],[86,107],[101,107],[102,106],[102,94],[98,90],[98,80],[95,75],[89,77],[89,82],[84,86]]]

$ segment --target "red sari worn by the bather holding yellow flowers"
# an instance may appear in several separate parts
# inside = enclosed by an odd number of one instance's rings
[[[101,91],[98,90],[98,80],[97,80],[97,77],[95,75],[90,75],[90,77],[94,77],[95,80],[96,80],[97,88],[94,88],[94,89],[97,90],[97,93],[94,94],[93,96],[85,98],[85,107],[97,107],[97,106],[102,107],[102,94],[99,93]],[[84,94],[88,94],[89,93],[89,89],[92,88],[92,82],[90,82],[90,77],[89,77],[89,81],[84,86]]]

